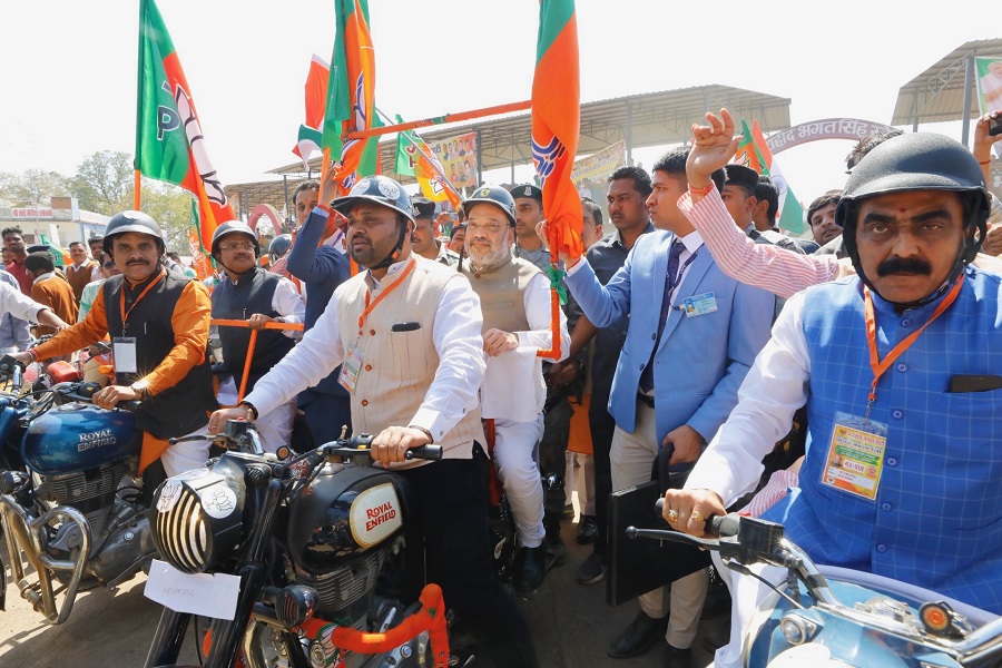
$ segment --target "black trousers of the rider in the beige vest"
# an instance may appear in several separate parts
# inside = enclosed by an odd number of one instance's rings
[[[525,618],[494,572],[488,538],[488,464],[474,443],[472,460],[442,460],[401,471],[413,493],[409,549],[418,542],[414,539],[423,538],[426,581],[442,588],[445,606],[497,668],[537,667]]]

